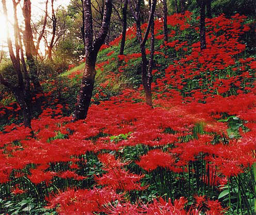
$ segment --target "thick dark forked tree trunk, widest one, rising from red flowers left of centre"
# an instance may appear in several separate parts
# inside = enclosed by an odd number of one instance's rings
[[[101,45],[104,43],[110,26],[112,0],[105,0],[101,28],[97,38],[94,41],[91,0],[83,0],[83,13],[86,65],[84,66],[81,87],[77,96],[73,121],[84,120],[87,117],[96,76],[95,64],[97,55]]]

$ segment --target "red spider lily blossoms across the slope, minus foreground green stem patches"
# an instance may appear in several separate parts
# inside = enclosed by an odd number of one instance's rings
[[[182,31],[198,31],[190,25],[190,16],[191,13],[186,12],[168,17],[168,25],[175,29],[169,32],[171,39]],[[143,102],[139,90],[125,89],[109,101],[92,105],[86,121],[71,122],[71,117],[62,117],[66,107],[58,105],[32,120],[33,136],[22,125],[6,126],[0,133],[0,183],[12,183],[14,175],[37,186],[51,186],[57,180],[83,182],[88,176],[79,170],[88,165],[87,159],[94,153],[102,164],[102,172],[93,175],[94,188],[63,187],[60,193],[50,195],[49,207],[59,206],[60,214],[199,215],[201,211],[208,215],[222,214],[221,203],[205,196],[196,196],[195,204],[186,207],[188,201],[184,197],[132,204],[125,195],[131,190],[143,192],[148,189],[150,184],[142,185],[141,179],[159,168],[168,174],[187,173],[190,177],[197,173],[197,163],[202,162],[205,172],[198,180],[217,187],[225,185],[230,177],[247,172],[256,161],[253,124],[256,96],[250,82],[256,61],[236,58],[245,50],[240,40],[249,30],[244,25],[245,18],[237,14],[232,19],[224,15],[207,19],[207,49],[202,52],[199,42],[189,44],[175,39],[161,45],[156,55],[168,58],[164,53],[172,49],[177,55],[180,53],[180,59],[167,65],[164,71],[153,70],[154,108]],[[155,21],[157,40],[163,39],[162,22],[162,19]],[[145,28],[143,24],[142,30]],[[127,39],[135,37],[133,26],[127,30]],[[116,38],[110,46],[118,45],[120,39]],[[108,47],[103,45],[101,50]],[[98,63],[97,69],[103,71],[105,65],[117,60],[112,58],[113,54],[114,51],[109,52],[109,60]],[[140,57],[141,54],[133,53],[117,58],[127,63]],[[124,70],[125,66],[121,65],[119,72]],[[72,73],[69,78],[79,73]],[[101,87],[104,89],[116,76],[119,74],[110,73],[108,82]],[[103,91],[97,96],[104,96]],[[18,109],[2,107],[0,111],[5,114]],[[243,122],[239,138],[228,132],[227,115]],[[194,136],[200,126],[202,132]],[[120,134],[129,135],[119,139]],[[58,138],[60,135],[62,138]],[[144,151],[134,159],[122,159],[123,150],[136,151],[136,147]],[[65,166],[65,171],[60,169],[61,165]],[[144,174],[132,172],[130,165],[143,169]],[[15,195],[27,192],[26,187],[12,186]]]

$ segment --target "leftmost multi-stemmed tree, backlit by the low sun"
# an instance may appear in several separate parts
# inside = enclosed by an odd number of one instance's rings
[[[15,0],[12,1],[13,3],[13,16],[14,16],[14,26],[13,26],[13,31],[14,31],[14,45],[15,45],[15,52],[13,50],[13,45],[11,38],[9,36],[9,33],[7,34],[7,42],[8,42],[8,49],[9,49],[9,54],[10,58],[16,73],[16,80],[17,83],[13,85],[10,83],[7,79],[3,77],[2,74],[0,74],[0,82],[4,86],[6,86],[8,89],[12,91],[12,93],[15,96],[15,99],[17,103],[19,104],[20,108],[22,109],[23,112],[23,118],[24,118],[24,125],[25,127],[30,127],[31,128],[31,91],[30,91],[30,78],[28,75],[28,70],[26,67],[25,59],[24,59],[24,54],[23,54],[23,49],[22,49],[22,40],[20,39],[20,31],[19,31],[19,26],[18,26],[18,19],[17,19],[17,5],[19,2],[16,2]],[[27,3],[27,2],[26,2]],[[7,12],[7,7],[6,7],[6,0],[2,0],[2,6],[4,10],[4,14],[6,16],[6,21],[8,17],[8,12]],[[25,7],[29,7],[25,5]],[[31,38],[29,38],[30,35],[30,29],[28,28],[29,25],[29,10],[28,8],[25,9],[27,14],[24,14],[26,21],[27,21],[27,28],[25,29],[25,41],[26,43],[25,47],[27,47],[27,56],[31,57],[29,58],[29,67],[32,69],[31,73],[32,76],[34,76],[35,68],[32,67],[32,64],[30,60],[33,62],[33,57],[32,57],[32,45]],[[24,12],[25,13],[25,12]],[[28,32],[27,32],[28,31]],[[20,64],[20,61],[22,62],[22,65]],[[35,78],[32,79],[35,81]],[[36,81],[35,81],[36,82]],[[36,85],[34,85],[36,87]]]

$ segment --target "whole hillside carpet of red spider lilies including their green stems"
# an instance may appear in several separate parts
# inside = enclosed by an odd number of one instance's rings
[[[119,37],[102,47],[97,69],[108,76],[96,86],[85,121],[71,122],[63,116],[68,104],[54,100],[32,121],[33,134],[6,126],[3,204],[30,197],[46,206],[44,214],[253,214],[256,61],[243,38],[250,28],[238,14],[207,19],[201,52],[191,16],[168,17],[168,43],[162,20],[155,21],[154,108],[144,103],[142,87],[131,85],[104,99],[141,57],[118,56]],[[133,42],[135,27],[127,34]],[[1,108],[8,111],[18,110]]]

